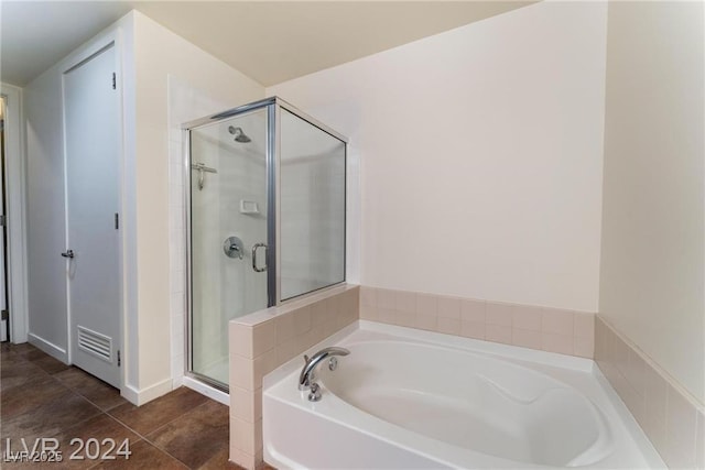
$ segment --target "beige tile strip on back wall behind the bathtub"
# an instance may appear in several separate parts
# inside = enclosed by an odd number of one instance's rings
[[[594,314],[361,287],[360,318],[592,358]]]

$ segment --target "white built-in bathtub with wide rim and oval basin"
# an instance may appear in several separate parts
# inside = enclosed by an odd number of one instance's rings
[[[350,354],[321,364],[317,403],[303,360],[265,378],[270,464],[664,467],[593,361],[369,321],[336,343]]]

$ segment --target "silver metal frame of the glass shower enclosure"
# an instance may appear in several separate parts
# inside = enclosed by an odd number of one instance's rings
[[[193,304],[192,304],[192,226],[191,226],[191,185],[192,185],[192,172],[191,172],[191,131],[199,128],[205,124],[213,124],[219,122],[225,119],[235,118],[238,116],[246,114],[251,111],[257,111],[262,108],[267,108],[267,152],[265,152],[265,166],[267,166],[267,306],[274,307],[278,305],[286,304],[293,302],[299,298],[292,297],[286,300],[281,300],[281,260],[279,258],[278,247],[281,241],[281,215],[279,212],[279,199],[280,199],[280,183],[281,183],[281,139],[280,132],[281,129],[281,109],[285,109],[292,114],[299,117],[300,119],[308,122],[310,124],[318,128],[323,132],[334,136],[335,139],[345,143],[345,187],[344,190],[344,210],[347,211],[347,145],[348,139],[328,128],[324,123],[319,122],[315,118],[306,114],[301,111],[291,103],[284,101],[279,97],[270,97],[259,101],[254,101],[248,105],[239,106],[227,111],[223,111],[216,114],[207,116],[205,118],[200,118],[194,121],[186,122],[182,124],[182,143],[183,143],[183,155],[184,155],[184,209],[185,209],[185,229],[186,229],[186,247],[185,247],[185,267],[186,267],[186,289],[185,289],[185,361],[184,365],[186,370],[184,371],[187,376],[195,378],[199,381],[203,381],[212,386],[215,386],[218,390],[224,390],[224,384],[215,381],[208,376],[199,374],[193,371],[193,358],[192,358],[192,346],[191,346],[191,334],[193,330],[192,326],[192,317],[193,317]],[[347,217],[344,217],[344,233],[347,233]],[[271,262],[270,262],[271,261]],[[274,265],[272,270],[271,266]],[[330,288],[333,286],[345,283],[345,273],[347,269],[347,236],[344,237],[344,245],[343,245],[343,273],[344,278],[339,283],[330,284],[328,286],[322,287],[317,291]],[[308,293],[302,294],[306,295]],[[228,390],[228,384],[226,385],[226,391]]]

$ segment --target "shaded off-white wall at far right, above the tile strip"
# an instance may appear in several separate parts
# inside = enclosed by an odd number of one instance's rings
[[[702,2],[609,6],[600,315],[705,403]]]

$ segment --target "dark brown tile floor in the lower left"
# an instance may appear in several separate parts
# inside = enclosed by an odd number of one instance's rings
[[[0,468],[24,469],[240,469],[228,462],[228,407],[181,387],[141,407],[133,406],[110,385],[68,367],[29,343],[0,347]],[[36,438],[59,442],[62,462],[8,462],[31,448]],[[77,453],[76,441],[94,441]],[[89,459],[105,453],[112,439],[129,440],[129,459],[108,452],[115,460]],[[52,441],[53,442],[53,441]]]

